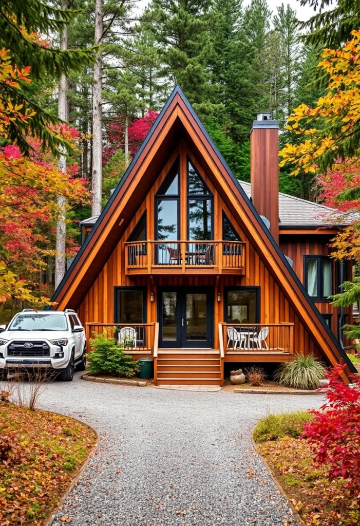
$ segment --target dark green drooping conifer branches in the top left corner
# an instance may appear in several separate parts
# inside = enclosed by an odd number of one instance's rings
[[[58,9],[40,0],[8,0],[0,4],[0,48],[9,49],[14,63],[18,67],[30,67],[32,79],[41,81],[44,75],[59,78],[79,70],[93,60],[93,49],[60,50],[38,40],[34,34],[59,33],[74,17],[68,9]],[[66,146],[66,141],[59,138],[49,129],[50,124],[57,124],[58,118],[37,104],[30,90],[25,87],[16,90],[9,84],[0,85],[0,97],[11,99],[14,104],[23,105],[23,111],[34,113],[23,123],[9,123],[7,136],[9,142],[29,154],[26,136],[38,137],[43,148],[50,147],[57,153],[59,145]]]

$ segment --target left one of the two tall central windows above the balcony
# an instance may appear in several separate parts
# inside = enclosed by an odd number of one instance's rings
[[[155,234],[159,241],[178,240],[180,234],[179,158],[174,162],[155,197]]]

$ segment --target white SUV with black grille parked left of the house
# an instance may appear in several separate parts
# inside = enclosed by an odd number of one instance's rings
[[[74,310],[24,309],[0,327],[0,372],[40,367],[71,382],[74,368],[84,371],[85,365],[85,331]]]

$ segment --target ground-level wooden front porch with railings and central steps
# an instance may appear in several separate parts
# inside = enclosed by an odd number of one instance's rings
[[[154,383],[223,385],[224,362],[290,361],[294,323],[218,323],[219,349],[159,348],[159,323],[86,323],[86,335],[106,330],[134,359],[152,357]],[[88,344],[88,349],[90,348]]]

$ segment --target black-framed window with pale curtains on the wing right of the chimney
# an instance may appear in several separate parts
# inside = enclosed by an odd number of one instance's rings
[[[327,299],[333,294],[333,269],[330,256],[305,256],[305,288],[313,299]]]

